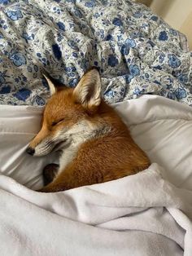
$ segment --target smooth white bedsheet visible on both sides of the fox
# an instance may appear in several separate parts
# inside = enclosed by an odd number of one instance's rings
[[[114,107],[133,138],[166,170],[167,179],[181,188],[192,187],[192,108],[146,95]],[[41,170],[55,156],[31,157],[28,142],[40,129],[41,108],[0,106],[0,170],[28,188],[41,186]]]

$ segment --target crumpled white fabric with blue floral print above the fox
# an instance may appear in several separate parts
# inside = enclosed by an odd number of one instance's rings
[[[43,105],[44,69],[76,86],[98,66],[115,103],[142,94],[192,103],[185,37],[127,0],[0,0],[0,103]]]

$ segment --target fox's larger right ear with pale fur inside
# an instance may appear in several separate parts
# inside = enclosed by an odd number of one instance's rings
[[[101,103],[101,79],[98,69],[91,68],[87,71],[76,88],[73,96],[77,103],[88,110],[94,110]]]

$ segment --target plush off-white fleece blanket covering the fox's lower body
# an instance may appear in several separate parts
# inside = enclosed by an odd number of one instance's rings
[[[53,194],[0,175],[1,253],[190,256],[192,191],[173,187],[160,171],[153,164],[124,179]]]

